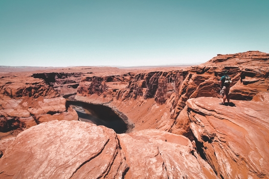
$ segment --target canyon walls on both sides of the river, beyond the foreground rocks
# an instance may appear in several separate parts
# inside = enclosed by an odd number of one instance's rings
[[[148,128],[171,131],[187,99],[220,97],[218,81],[224,70],[228,70],[233,81],[231,99],[251,100],[267,93],[268,59],[269,54],[248,51],[218,55],[199,66],[178,70],[165,68],[141,73],[141,70],[87,68],[70,73],[62,70],[3,75],[0,130],[29,128],[54,118],[76,120],[75,111],[68,109],[61,96],[77,93],[75,99],[79,101],[104,104],[124,114],[134,124],[134,131]]]

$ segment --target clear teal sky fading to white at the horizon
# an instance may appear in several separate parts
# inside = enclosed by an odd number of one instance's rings
[[[0,0],[0,65],[205,62],[269,53],[269,0]]]

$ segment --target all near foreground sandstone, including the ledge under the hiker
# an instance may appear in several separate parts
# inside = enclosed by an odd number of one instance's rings
[[[81,121],[42,123],[0,140],[8,145],[0,178],[268,179],[268,103],[219,101],[187,100],[172,132],[191,133],[192,142],[156,129],[115,134]]]

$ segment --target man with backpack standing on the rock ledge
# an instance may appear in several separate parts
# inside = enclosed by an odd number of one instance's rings
[[[224,76],[222,76],[221,80],[219,81],[219,83],[221,84],[221,95],[223,96],[223,102],[219,103],[221,105],[225,104],[225,100],[227,99],[228,105],[230,102],[230,98],[229,98],[229,90],[230,90],[230,84],[231,84],[231,78],[227,75],[227,70],[225,70],[224,72]]]

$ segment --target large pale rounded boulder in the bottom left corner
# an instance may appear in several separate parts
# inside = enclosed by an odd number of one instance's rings
[[[25,130],[0,159],[1,179],[121,179],[127,169],[112,129],[80,121]]]

